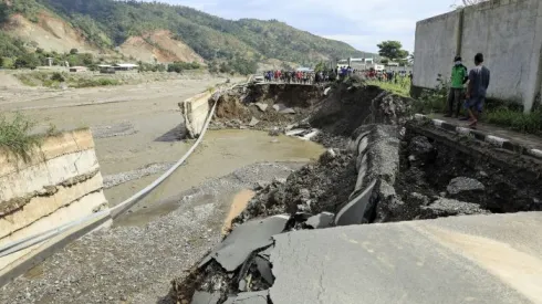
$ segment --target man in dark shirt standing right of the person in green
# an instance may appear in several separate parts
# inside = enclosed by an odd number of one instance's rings
[[[490,80],[489,69],[483,66],[482,53],[476,54],[475,64],[476,67],[469,73],[469,87],[467,88],[467,111],[470,116],[469,126],[472,128],[476,128],[482,113]]]

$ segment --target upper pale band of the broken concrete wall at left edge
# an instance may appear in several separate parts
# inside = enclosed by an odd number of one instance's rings
[[[96,176],[100,165],[93,147],[92,134],[84,129],[44,138],[28,161],[0,154],[0,219],[34,198]]]

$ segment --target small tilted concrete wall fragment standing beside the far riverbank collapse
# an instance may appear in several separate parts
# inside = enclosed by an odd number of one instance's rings
[[[204,92],[179,103],[180,112],[185,119],[186,132],[190,138],[196,138],[201,134],[210,111],[209,99],[211,96],[211,93]]]

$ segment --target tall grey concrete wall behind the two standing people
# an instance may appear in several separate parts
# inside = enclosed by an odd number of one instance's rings
[[[449,78],[454,56],[473,67],[481,52],[491,70],[489,97],[521,103],[530,111],[541,90],[542,2],[492,0],[419,21],[414,85],[435,87]]]

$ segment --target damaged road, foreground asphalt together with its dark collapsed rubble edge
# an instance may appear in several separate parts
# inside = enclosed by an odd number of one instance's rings
[[[542,243],[530,241],[542,228],[541,213],[494,214],[542,210],[541,164],[483,144],[471,153],[472,143],[406,123],[408,101],[379,88],[351,81],[326,91],[308,116],[288,120],[305,130],[283,132],[319,129],[312,140],[329,150],[286,180],[259,185],[232,233],[195,265],[189,280],[173,282],[177,302],[542,298]],[[251,99],[244,107],[254,102],[262,112],[281,99],[268,106]],[[514,233],[503,233],[509,230]],[[509,279],[530,275],[509,266],[518,259],[533,263],[536,283]]]

